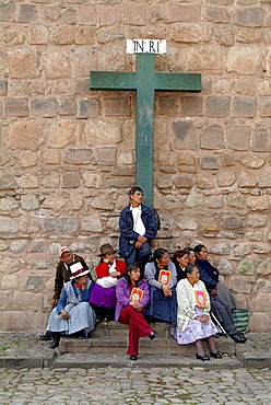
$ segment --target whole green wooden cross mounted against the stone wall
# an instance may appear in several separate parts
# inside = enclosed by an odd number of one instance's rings
[[[155,71],[155,54],[138,54],[138,71],[91,71],[91,90],[136,90],[136,184],[153,205],[153,118],[155,91],[201,91],[200,73]]]

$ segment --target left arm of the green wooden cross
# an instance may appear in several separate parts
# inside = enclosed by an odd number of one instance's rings
[[[91,90],[137,90],[138,72],[91,71]]]

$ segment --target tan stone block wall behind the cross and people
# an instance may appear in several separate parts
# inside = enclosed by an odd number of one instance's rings
[[[201,93],[157,93],[154,246],[203,242],[252,331],[271,329],[270,0],[0,2],[0,328],[45,327],[57,250],[93,267],[118,244],[134,185],[133,92],[90,70],[136,70],[127,38],[167,39],[157,71]]]

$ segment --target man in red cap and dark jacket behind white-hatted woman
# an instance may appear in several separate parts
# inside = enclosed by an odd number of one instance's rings
[[[57,265],[56,278],[55,278],[55,293],[50,302],[51,309],[57,305],[63,284],[70,280],[71,270],[70,266],[76,262],[80,262],[85,270],[89,270],[83,257],[72,254],[68,246],[61,246],[58,251],[60,262]],[[51,334],[49,331],[39,335],[39,340],[51,340]]]

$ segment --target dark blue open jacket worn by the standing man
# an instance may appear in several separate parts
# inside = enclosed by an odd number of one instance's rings
[[[131,206],[129,205],[122,209],[119,217],[119,254],[122,257],[126,257],[131,253],[139,235],[139,233],[133,231],[133,218],[130,207]],[[145,227],[145,234],[143,236],[148,238],[149,242],[151,242],[157,233],[156,220],[152,209],[141,205],[141,219]]]

